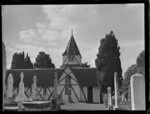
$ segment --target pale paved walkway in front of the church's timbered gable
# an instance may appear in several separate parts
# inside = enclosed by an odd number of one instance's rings
[[[62,110],[106,110],[104,104],[68,103],[61,105]]]

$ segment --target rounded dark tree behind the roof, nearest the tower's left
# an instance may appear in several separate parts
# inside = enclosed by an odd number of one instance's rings
[[[51,58],[45,52],[39,52],[34,63],[35,68],[55,68]]]

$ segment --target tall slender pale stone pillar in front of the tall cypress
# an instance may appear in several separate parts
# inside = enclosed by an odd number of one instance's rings
[[[115,107],[118,108],[118,76],[117,72],[114,74],[114,89],[115,89]]]

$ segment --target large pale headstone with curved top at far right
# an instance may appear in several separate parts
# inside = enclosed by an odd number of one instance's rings
[[[145,110],[145,79],[141,74],[134,74],[130,79],[132,110]]]

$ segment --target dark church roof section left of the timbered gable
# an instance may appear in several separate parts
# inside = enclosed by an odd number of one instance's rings
[[[63,69],[55,69],[55,68],[48,68],[48,69],[11,69],[7,70],[6,72],[6,80],[5,83],[7,84],[7,78],[9,73],[12,73],[14,79],[14,87],[18,87],[20,82],[20,73],[23,72],[24,74],[24,85],[25,87],[31,87],[33,83],[33,76],[36,75],[37,77],[37,86],[40,87],[49,87],[54,85],[54,74],[57,72],[57,76],[59,79]]]

